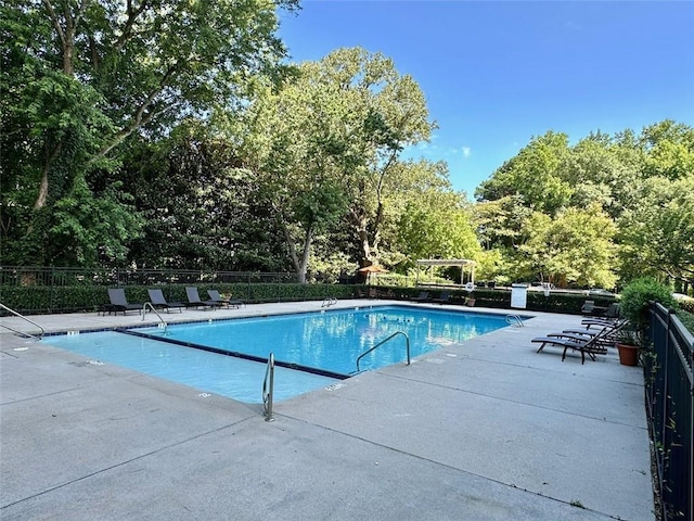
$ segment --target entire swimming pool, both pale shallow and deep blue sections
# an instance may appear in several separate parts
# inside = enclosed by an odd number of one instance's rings
[[[203,391],[260,403],[265,364],[258,361],[267,360],[270,353],[284,366],[277,368],[274,379],[275,401],[281,401],[354,374],[359,355],[398,331],[408,335],[411,356],[416,357],[506,326],[503,315],[373,306],[178,323],[166,330],[48,336],[44,342]],[[406,353],[404,336],[398,335],[364,356],[360,369],[402,363]]]

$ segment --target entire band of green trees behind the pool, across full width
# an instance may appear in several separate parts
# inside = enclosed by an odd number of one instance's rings
[[[295,0],[0,4],[3,263],[294,269],[468,257],[478,277],[694,282],[694,129],[535,137],[470,207],[381,53],[281,64]],[[476,237],[475,237],[476,236]],[[484,251],[481,250],[484,249]],[[619,256],[614,253],[618,252]]]

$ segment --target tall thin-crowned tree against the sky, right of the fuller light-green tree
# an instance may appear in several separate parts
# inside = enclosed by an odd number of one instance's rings
[[[398,165],[402,150],[427,141],[436,124],[428,118],[416,81],[400,75],[393,61],[382,54],[342,49],[330,54],[324,66],[355,99],[352,110],[359,125],[351,140],[361,162],[351,169],[346,189],[360,256],[373,262],[378,257],[387,201],[401,190],[399,174],[403,170]]]

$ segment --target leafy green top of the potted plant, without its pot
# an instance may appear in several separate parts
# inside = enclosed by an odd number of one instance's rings
[[[645,339],[648,329],[648,303],[651,301],[658,302],[668,308],[677,307],[671,290],[651,277],[632,280],[620,294],[620,314],[629,320],[641,342]]]

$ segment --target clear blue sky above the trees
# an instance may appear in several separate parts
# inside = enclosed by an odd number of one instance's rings
[[[694,126],[694,2],[304,0],[293,62],[360,46],[422,88],[439,128],[409,151],[475,188],[534,136]]]

